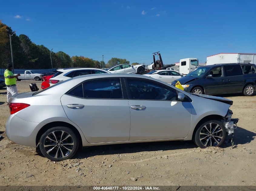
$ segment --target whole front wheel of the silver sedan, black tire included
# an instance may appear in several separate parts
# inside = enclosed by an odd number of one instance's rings
[[[221,137],[221,138],[220,138]],[[217,120],[206,121],[196,130],[193,141],[200,148],[219,147],[226,138],[224,125]],[[201,139],[201,140],[200,140]]]

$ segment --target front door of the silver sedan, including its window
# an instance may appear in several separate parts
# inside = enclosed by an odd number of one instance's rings
[[[127,78],[126,87],[131,112],[130,141],[188,135],[191,104],[177,101],[175,89],[141,78]]]

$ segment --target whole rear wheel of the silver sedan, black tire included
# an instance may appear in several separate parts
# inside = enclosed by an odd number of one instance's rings
[[[62,132],[64,133],[62,134]],[[79,146],[79,139],[67,127],[52,127],[41,136],[39,146],[46,158],[51,161],[63,161],[74,156]]]

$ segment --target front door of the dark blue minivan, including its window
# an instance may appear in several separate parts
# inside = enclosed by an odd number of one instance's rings
[[[212,75],[212,78],[207,78]],[[223,94],[226,92],[226,81],[222,66],[213,67],[205,76],[200,79],[200,84],[204,87],[205,94]]]

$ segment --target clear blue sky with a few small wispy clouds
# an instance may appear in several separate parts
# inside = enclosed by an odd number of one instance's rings
[[[3,1],[0,19],[54,52],[164,64],[256,53],[256,1]],[[142,60],[145,59],[145,60]],[[141,61],[139,61],[141,60]]]

